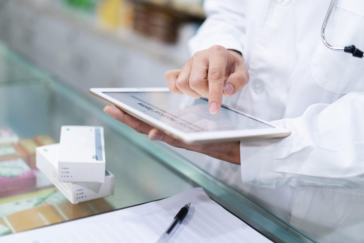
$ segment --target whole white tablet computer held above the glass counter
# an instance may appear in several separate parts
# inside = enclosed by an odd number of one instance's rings
[[[187,144],[290,134],[225,105],[210,114],[207,99],[172,94],[167,88],[99,88],[90,93]]]

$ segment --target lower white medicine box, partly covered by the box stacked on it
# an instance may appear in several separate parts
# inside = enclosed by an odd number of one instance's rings
[[[37,147],[36,166],[71,203],[114,195],[114,175],[109,171],[104,171],[104,183],[59,182],[58,153],[59,144]]]

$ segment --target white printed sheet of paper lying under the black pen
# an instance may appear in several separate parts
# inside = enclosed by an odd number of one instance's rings
[[[170,242],[270,242],[211,200],[202,188],[167,199],[4,236],[3,243],[156,242],[186,203],[191,208]]]

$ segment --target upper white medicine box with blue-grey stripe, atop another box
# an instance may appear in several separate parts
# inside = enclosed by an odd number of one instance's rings
[[[100,126],[62,126],[58,181],[104,182],[104,129]]]

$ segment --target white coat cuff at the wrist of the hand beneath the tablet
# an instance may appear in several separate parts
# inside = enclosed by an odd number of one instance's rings
[[[240,163],[243,183],[273,188],[272,143],[272,139],[240,141]]]

